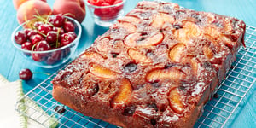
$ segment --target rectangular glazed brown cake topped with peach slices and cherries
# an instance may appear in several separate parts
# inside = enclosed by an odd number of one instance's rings
[[[124,128],[193,127],[244,45],[242,20],[137,3],[53,79],[56,101]]]

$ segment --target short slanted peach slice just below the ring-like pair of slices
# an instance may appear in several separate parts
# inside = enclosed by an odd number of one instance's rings
[[[148,56],[143,55],[141,52],[139,52],[136,49],[128,49],[128,55],[131,57],[131,59],[137,62],[152,63],[152,60],[148,58]]]

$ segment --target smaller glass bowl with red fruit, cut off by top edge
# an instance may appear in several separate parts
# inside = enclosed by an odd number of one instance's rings
[[[119,17],[124,15],[125,1],[123,0],[121,3],[110,6],[92,5],[88,0],[85,0],[85,3],[90,10],[90,15],[92,15],[93,20],[98,26],[111,26]]]

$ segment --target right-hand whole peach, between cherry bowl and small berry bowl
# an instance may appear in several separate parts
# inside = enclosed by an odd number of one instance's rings
[[[53,13],[67,14],[81,23],[86,15],[84,0],[55,0]]]

